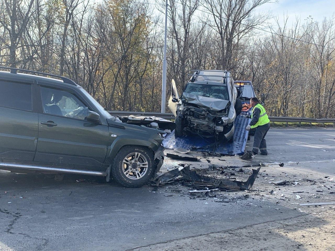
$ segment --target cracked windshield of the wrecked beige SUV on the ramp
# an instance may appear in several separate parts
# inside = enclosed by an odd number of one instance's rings
[[[228,89],[225,85],[210,85],[189,82],[186,85],[184,92],[196,96],[229,100]]]

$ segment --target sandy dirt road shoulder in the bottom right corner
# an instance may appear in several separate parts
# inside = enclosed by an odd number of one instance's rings
[[[335,208],[304,216],[183,238],[133,251],[335,250]]]

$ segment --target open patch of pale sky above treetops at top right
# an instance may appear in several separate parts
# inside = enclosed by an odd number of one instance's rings
[[[296,16],[303,21],[311,15],[315,21],[320,22],[325,16],[334,14],[335,0],[278,0],[277,3],[264,4],[258,11],[271,11],[280,20],[287,14],[291,22]]]

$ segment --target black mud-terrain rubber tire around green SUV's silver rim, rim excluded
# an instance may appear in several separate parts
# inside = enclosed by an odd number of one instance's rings
[[[133,180],[129,179],[126,177],[126,175],[123,173],[122,170],[122,165],[123,165],[123,160],[124,158],[133,152],[139,152],[145,156],[145,158],[148,161],[148,170],[147,172],[143,175],[142,178]],[[147,184],[150,179],[153,177],[155,171],[156,171],[156,166],[154,162],[154,156],[153,153],[150,149],[146,147],[139,147],[139,146],[124,146],[122,147],[119,152],[116,154],[114,160],[113,160],[113,165],[111,168],[111,174],[115,181],[123,186],[126,187],[140,187],[145,184]]]

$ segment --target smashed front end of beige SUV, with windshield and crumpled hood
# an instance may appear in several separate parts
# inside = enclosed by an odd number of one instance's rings
[[[176,106],[175,136],[193,134],[220,142],[231,140],[236,112],[229,95],[224,83],[189,82]]]

